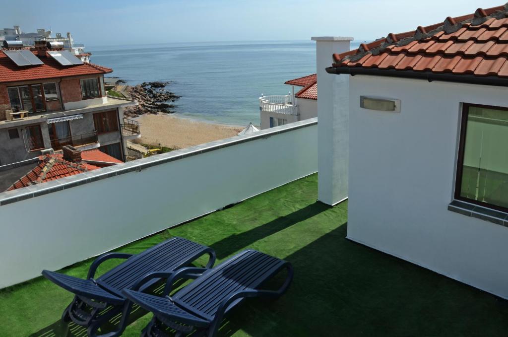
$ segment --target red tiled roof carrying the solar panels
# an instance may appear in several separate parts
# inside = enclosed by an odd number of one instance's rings
[[[0,51],[0,83],[79,75],[108,74],[113,72],[110,68],[91,63],[63,67],[51,56],[39,58],[44,63],[43,65],[18,67],[4,52]]]

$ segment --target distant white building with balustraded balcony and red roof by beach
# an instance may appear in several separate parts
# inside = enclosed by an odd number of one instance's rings
[[[316,74],[289,80],[291,93],[259,98],[261,129],[317,117]],[[295,94],[295,86],[301,87]]]

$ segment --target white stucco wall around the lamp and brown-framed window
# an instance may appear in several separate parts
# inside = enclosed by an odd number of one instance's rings
[[[350,77],[347,237],[508,298],[508,228],[447,209],[461,102],[506,107],[507,94],[494,86]],[[401,112],[362,109],[361,95],[400,99]]]

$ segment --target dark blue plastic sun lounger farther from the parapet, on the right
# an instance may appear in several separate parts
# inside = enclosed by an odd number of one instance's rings
[[[259,286],[282,269],[287,277],[278,290],[263,290]],[[173,283],[179,279],[196,279],[169,296]],[[164,336],[168,328],[176,335],[214,336],[223,317],[247,297],[277,298],[289,287],[293,268],[289,262],[254,250],[241,252],[212,269],[187,267],[177,270],[167,280],[164,297],[135,290],[123,293],[140,307],[153,313],[153,319],[143,329],[142,336]]]

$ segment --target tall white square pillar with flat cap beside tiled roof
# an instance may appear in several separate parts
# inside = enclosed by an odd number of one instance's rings
[[[316,42],[318,196],[335,205],[348,195],[349,75],[333,75],[326,68],[334,53],[351,49],[350,37],[312,37]]]

